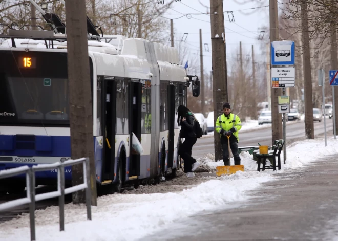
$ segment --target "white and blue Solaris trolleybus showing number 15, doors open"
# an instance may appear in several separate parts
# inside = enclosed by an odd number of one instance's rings
[[[0,170],[71,157],[66,36],[29,32],[9,30],[0,45]],[[176,111],[191,83],[199,96],[198,77],[187,76],[175,48],[144,39],[106,35],[90,39],[88,50],[98,186],[120,191],[123,183],[175,176]],[[142,154],[131,148],[133,134]],[[67,167],[66,183],[71,177]],[[56,178],[57,170],[37,172],[36,184]],[[25,176],[0,186],[24,190]]]

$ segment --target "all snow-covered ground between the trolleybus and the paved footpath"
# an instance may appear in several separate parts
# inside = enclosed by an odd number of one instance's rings
[[[337,140],[306,140],[295,142],[287,148],[287,172],[299,168],[327,155],[337,154]],[[316,155],[313,155],[315,150]],[[213,154],[199,161],[209,170],[215,170],[222,161],[215,162]],[[187,178],[179,177],[153,186],[141,186],[123,194],[98,198],[98,206],[92,208],[92,221],[86,221],[83,205],[65,206],[65,229],[58,230],[58,207],[36,210],[37,240],[137,240],[165,228],[180,218],[192,216],[200,211],[224,208],[229,202],[248,199],[247,192],[262,183],[274,179],[273,170],[258,172],[257,164],[247,152],[241,153],[245,171],[231,176]],[[233,159],[231,163],[233,164]],[[283,163],[283,162],[282,162]],[[29,240],[29,214],[0,224],[0,240]]]

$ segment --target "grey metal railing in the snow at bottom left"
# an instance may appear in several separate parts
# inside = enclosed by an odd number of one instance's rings
[[[83,183],[65,188],[65,166],[73,166],[83,163]],[[47,192],[35,195],[35,172],[48,171],[57,168],[57,191]],[[89,173],[89,158],[80,158],[76,160],[69,160],[65,162],[56,162],[52,164],[39,164],[36,166],[22,166],[18,168],[0,171],[0,179],[10,178],[19,174],[26,173],[26,198],[12,200],[0,204],[0,211],[5,211],[13,207],[24,204],[29,204],[30,229],[31,240],[35,240],[35,201],[41,201],[51,198],[59,197],[59,215],[60,215],[60,231],[65,230],[65,194],[86,189],[86,206],[87,219],[92,220],[91,212],[91,189],[90,189],[90,173]]]

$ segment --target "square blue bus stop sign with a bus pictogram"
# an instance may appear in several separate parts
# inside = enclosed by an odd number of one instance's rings
[[[294,42],[273,41],[271,42],[272,65],[294,65]]]

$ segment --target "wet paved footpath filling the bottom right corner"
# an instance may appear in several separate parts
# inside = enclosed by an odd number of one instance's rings
[[[246,202],[200,212],[144,240],[337,240],[337,164],[333,156],[278,174]]]

